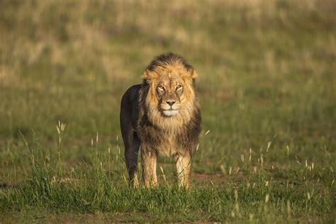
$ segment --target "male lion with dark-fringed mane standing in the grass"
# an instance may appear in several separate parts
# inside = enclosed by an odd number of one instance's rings
[[[137,187],[138,150],[145,187],[157,184],[157,155],[173,156],[179,186],[190,185],[191,156],[198,145],[201,113],[191,65],[174,53],[159,55],[121,100],[121,133],[130,185]]]

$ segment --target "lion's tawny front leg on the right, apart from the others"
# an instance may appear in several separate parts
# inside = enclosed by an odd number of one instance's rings
[[[179,179],[179,186],[189,189],[190,186],[190,172],[191,172],[191,155],[186,152],[184,154],[174,155],[175,164],[177,167],[177,177]]]

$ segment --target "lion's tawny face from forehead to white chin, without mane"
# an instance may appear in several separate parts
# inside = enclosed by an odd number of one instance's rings
[[[162,76],[156,89],[159,110],[164,116],[176,116],[185,98],[183,79],[178,74]]]

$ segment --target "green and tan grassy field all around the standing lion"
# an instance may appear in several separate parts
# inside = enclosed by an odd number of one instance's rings
[[[2,222],[335,222],[336,2],[0,1]],[[189,191],[128,188],[125,89],[198,72]],[[56,128],[58,126],[58,130]]]

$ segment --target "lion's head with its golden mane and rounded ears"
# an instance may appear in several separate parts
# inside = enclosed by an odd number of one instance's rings
[[[148,118],[162,128],[190,121],[199,107],[196,77],[194,68],[183,57],[173,53],[156,57],[142,74]]]

